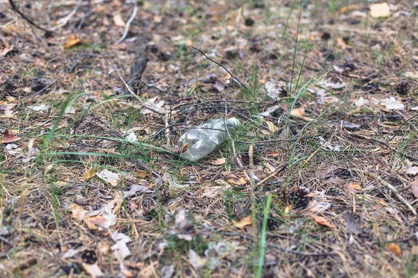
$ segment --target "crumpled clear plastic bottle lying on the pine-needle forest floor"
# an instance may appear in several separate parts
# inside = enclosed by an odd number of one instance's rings
[[[230,131],[236,129],[239,124],[235,117],[226,120],[226,126]],[[215,151],[227,137],[225,120],[222,118],[196,126],[178,139],[178,147],[183,150],[180,156],[189,161],[199,161]]]

